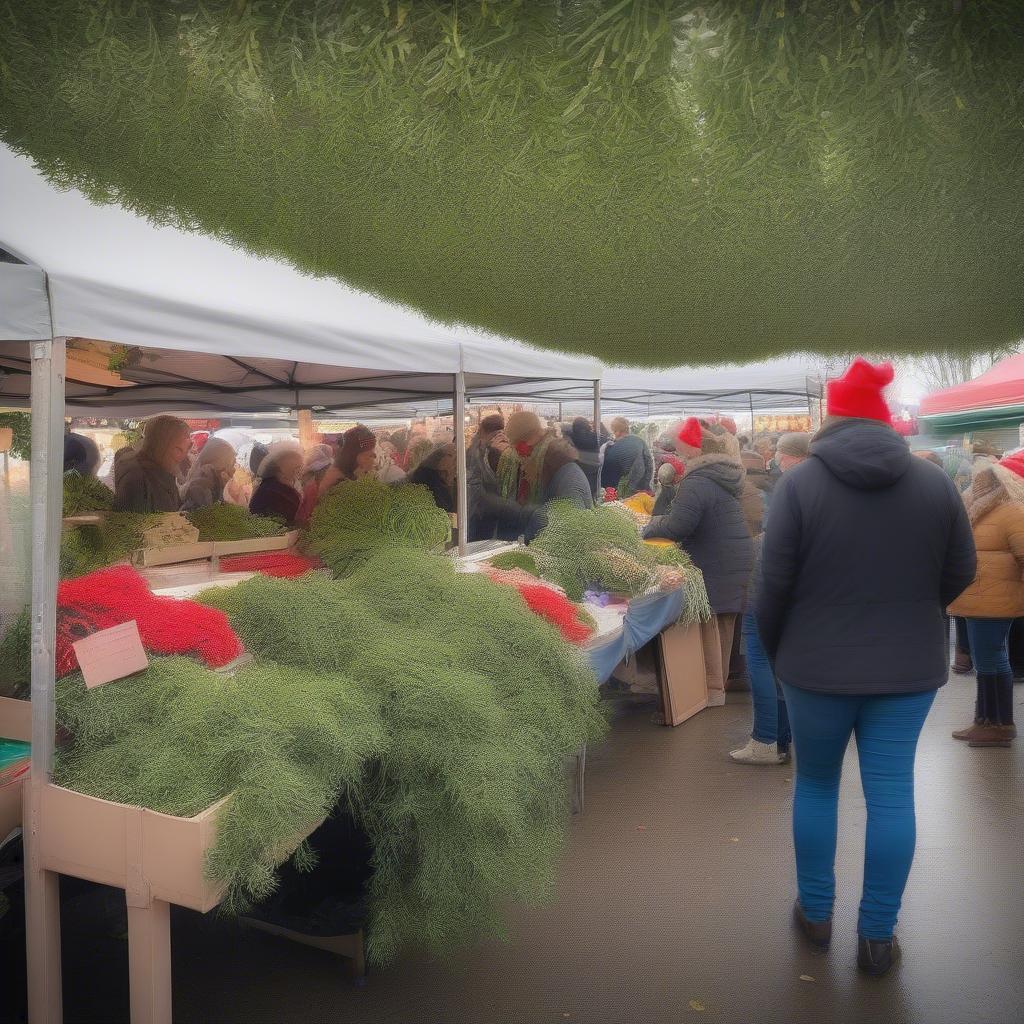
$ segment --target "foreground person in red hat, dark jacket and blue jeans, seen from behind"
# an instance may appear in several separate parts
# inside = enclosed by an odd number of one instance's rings
[[[892,428],[889,364],[857,358],[827,386],[810,458],[775,487],[755,603],[797,753],[794,920],[831,942],[840,773],[857,738],[867,804],[857,965],[899,959],[915,848],[918,738],[947,679],[945,609],[974,580],[974,538],[949,477]]]

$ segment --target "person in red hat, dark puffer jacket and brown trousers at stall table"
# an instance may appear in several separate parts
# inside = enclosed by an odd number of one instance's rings
[[[703,573],[714,611],[701,626],[708,706],[721,707],[736,618],[746,603],[754,564],[754,542],[740,504],[746,474],[739,464],[739,441],[717,424],[686,420],[676,431],[676,451],[686,473],[671,507],[651,518],[644,537],[675,541]]]

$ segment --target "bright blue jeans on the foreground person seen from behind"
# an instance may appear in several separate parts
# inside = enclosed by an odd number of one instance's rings
[[[853,733],[867,804],[857,931],[868,939],[889,939],[918,842],[913,760],[936,691],[848,696],[813,693],[785,683],[782,689],[797,748],[793,843],[800,905],[811,921],[831,916],[840,774]]]

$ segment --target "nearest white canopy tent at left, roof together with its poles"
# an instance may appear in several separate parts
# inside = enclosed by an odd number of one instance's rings
[[[68,338],[138,351],[121,381],[79,368],[66,375]],[[96,206],[0,145],[0,406],[31,401],[33,414],[32,813],[37,787],[50,783],[54,744],[66,412],[354,412],[453,396],[464,452],[467,393],[500,386],[525,396],[543,381],[582,388],[597,407],[600,373],[593,360],[447,329],[283,261]],[[462,545],[464,458],[459,482]],[[58,1020],[55,877],[31,843],[26,874],[30,1012]]]

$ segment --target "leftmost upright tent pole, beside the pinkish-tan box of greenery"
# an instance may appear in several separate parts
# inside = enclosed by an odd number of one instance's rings
[[[63,484],[63,338],[32,342],[32,772],[25,800],[25,903],[29,1020],[59,1024],[59,877],[37,842],[54,748],[54,647]]]

